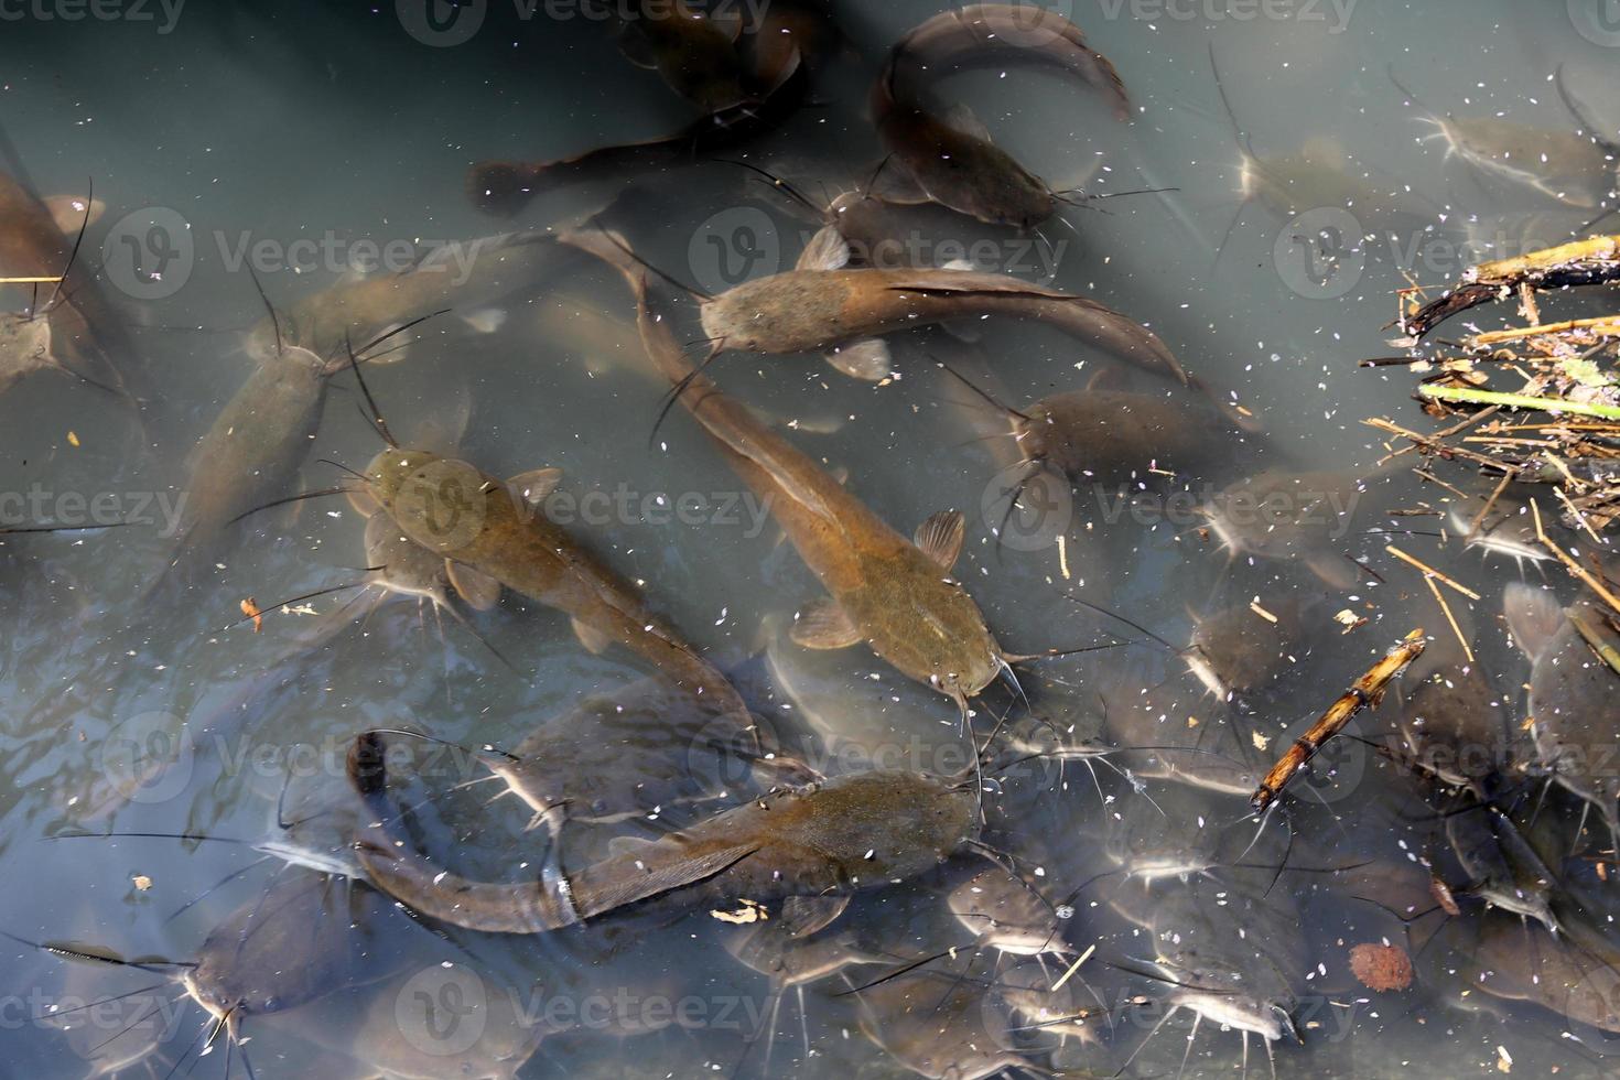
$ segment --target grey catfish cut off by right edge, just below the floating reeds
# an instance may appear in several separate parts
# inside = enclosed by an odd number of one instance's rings
[[[1554,780],[1594,806],[1620,844],[1620,772],[1612,750],[1620,733],[1620,709],[1615,674],[1588,646],[1576,627],[1578,619],[1592,619],[1588,604],[1560,607],[1547,589],[1520,581],[1507,586],[1502,597],[1503,615],[1513,641],[1531,661],[1529,717],[1531,738],[1541,764]]]

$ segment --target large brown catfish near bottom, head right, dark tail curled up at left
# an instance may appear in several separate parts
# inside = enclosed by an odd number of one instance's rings
[[[381,735],[360,735],[348,772],[379,821],[387,798]],[[672,907],[849,894],[915,878],[977,837],[970,776],[859,772],[773,792],[572,874],[549,858],[539,881],[491,884],[447,873],[379,826],[356,847],[379,889],[431,918],[505,934],[573,926],[664,897]]]

